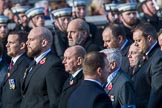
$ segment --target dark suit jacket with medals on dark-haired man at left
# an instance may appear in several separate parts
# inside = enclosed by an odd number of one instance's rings
[[[2,91],[2,108],[19,108],[22,100],[21,85],[25,69],[30,59],[23,54],[18,58],[10,71],[10,77],[6,77]],[[15,89],[10,89],[9,82],[14,80]]]

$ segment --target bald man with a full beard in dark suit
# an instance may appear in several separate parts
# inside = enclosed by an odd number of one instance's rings
[[[51,51],[52,37],[45,27],[35,27],[28,35],[27,55],[34,61],[24,74],[20,108],[58,107],[67,74],[59,57]]]

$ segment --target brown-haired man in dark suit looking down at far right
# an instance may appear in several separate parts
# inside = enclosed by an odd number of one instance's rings
[[[137,108],[156,108],[162,97],[162,54],[156,29],[149,23],[140,24],[134,29],[133,39],[143,53],[132,77]]]

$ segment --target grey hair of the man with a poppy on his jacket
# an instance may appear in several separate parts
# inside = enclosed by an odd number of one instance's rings
[[[109,61],[109,63],[115,61],[118,65],[118,67],[121,66],[121,62],[122,62],[122,54],[120,52],[119,49],[117,48],[108,48],[108,49],[104,49],[100,52],[103,52],[106,54],[106,58]]]

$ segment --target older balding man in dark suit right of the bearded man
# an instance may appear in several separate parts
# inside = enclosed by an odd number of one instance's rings
[[[85,49],[79,45],[69,47],[65,50],[62,63],[70,76],[63,86],[59,108],[67,108],[67,101],[70,95],[83,80],[82,62],[85,54]]]

